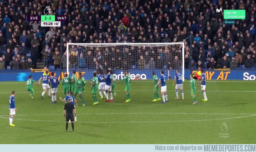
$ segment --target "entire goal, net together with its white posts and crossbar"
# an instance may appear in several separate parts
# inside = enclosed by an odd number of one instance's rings
[[[67,73],[83,73],[85,80],[91,80],[93,72],[102,75],[111,69],[115,79],[130,72],[131,79],[153,79],[152,71],[174,79],[180,70],[184,81],[184,43],[67,43]]]

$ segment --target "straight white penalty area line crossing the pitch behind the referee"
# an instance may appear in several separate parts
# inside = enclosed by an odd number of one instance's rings
[[[78,115],[133,115],[133,114],[173,114],[173,115],[256,115],[256,114],[222,114],[222,113],[176,113],[176,112],[130,112],[130,113],[87,113]],[[62,114],[21,114],[15,116],[62,115]],[[9,116],[9,115],[0,115]]]

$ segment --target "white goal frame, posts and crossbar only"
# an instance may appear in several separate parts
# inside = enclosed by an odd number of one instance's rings
[[[75,46],[121,46],[121,45],[126,45],[126,46],[137,46],[137,45],[181,45],[182,44],[182,81],[184,82],[185,80],[185,45],[184,42],[175,42],[175,43],[129,43],[129,42],[121,42],[121,43],[67,43],[67,74],[69,75],[69,46],[70,45],[75,45]],[[168,70],[168,76],[169,76],[169,71]]]

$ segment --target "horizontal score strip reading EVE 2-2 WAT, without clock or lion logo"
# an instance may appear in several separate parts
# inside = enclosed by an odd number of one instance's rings
[[[26,21],[37,21],[37,22],[54,22],[54,21],[61,21],[61,22],[69,22],[68,15],[27,15]]]

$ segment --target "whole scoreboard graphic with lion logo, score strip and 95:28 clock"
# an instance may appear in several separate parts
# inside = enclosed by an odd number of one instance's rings
[[[69,22],[68,15],[52,15],[52,9],[45,7],[44,15],[27,15],[26,21],[41,22],[41,27],[61,27],[61,22]]]

